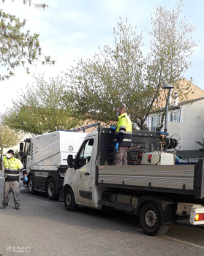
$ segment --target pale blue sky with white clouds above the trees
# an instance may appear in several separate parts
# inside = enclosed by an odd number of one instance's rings
[[[138,34],[144,31],[144,51],[148,51],[149,37],[145,31],[151,29],[151,13],[158,5],[173,10],[178,0],[33,0],[36,4],[48,4],[45,10],[23,5],[23,0],[5,0],[4,4],[0,1],[4,12],[27,20],[26,30],[40,34],[42,53],[57,61],[53,67],[37,63],[30,68],[31,74],[44,74],[48,79],[66,72],[75,65],[74,60],[91,59],[94,53],[99,53],[99,47],[113,47],[113,28],[117,27],[119,17],[137,26]],[[204,90],[204,1],[183,0],[183,3],[186,19],[196,28],[192,37],[199,41],[192,54],[192,66],[184,77],[192,77],[193,83]],[[34,78],[27,75],[23,67],[14,72],[14,77],[0,81],[0,113],[11,107],[12,99],[18,100],[18,94],[26,90],[27,84],[34,83]]]

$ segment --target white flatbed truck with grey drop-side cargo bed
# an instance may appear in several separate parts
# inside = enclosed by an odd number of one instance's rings
[[[132,165],[130,159],[127,166],[113,166],[113,131],[96,126],[98,132],[86,136],[76,157],[68,156],[63,184],[67,211],[83,205],[138,214],[149,236],[164,235],[177,219],[204,224],[203,159],[197,165]],[[151,151],[156,134],[133,131],[133,145]]]

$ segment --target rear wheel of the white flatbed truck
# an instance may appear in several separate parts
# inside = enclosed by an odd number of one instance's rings
[[[140,211],[140,224],[148,236],[163,236],[167,233],[170,225],[162,224],[159,209],[154,203],[145,203]]]

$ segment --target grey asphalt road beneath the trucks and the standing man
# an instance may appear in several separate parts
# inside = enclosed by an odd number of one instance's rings
[[[0,171],[0,200],[3,188]],[[68,212],[64,203],[27,189],[20,191],[20,211],[10,194],[9,206],[0,209],[0,228],[0,255],[204,255],[204,227],[171,225],[165,236],[150,237],[134,215],[86,207]]]

